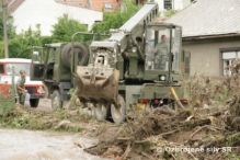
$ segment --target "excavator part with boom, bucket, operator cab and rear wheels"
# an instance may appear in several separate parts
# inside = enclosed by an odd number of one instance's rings
[[[108,111],[119,124],[127,106],[138,103],[182,106],[182,30],[157,18],[158,5],[145,4],[108,38],[93,41],[89,65],[77,67],[78,96],[94,105],[98,119]]]

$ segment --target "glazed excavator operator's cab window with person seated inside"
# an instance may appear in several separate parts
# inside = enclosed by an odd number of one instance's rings
[[[146,69],[162,70],[179,69],[179,47],[174,28],[149,27],[147,28]]]

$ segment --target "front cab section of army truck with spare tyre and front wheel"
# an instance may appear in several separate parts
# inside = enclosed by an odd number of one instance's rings
[[[54,110],[70,99],[75,87],[75,68],[88,65],[88,47],[80,43],[46,44],[34,47],[32,55],[31,79],[42,80],[52,99]]]

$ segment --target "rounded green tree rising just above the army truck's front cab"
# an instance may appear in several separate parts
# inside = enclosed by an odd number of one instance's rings
[[[57,24],[54,25],[53,39],[54,42],[70,42],[72,34],[76,32],[87,32],[88,27],[76,20],[71,20],[67,14],[58,19]],[[84,41],[85,36],[78,38]]]

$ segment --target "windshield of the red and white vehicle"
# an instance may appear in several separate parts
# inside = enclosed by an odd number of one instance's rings
[[[20,70],[24,70],[26,72],[26,76],[30,76],[30,67],[31,64],[5,64],[5,73],[8,76],[11,76],[14,68],[15,75],[19,75]]]

